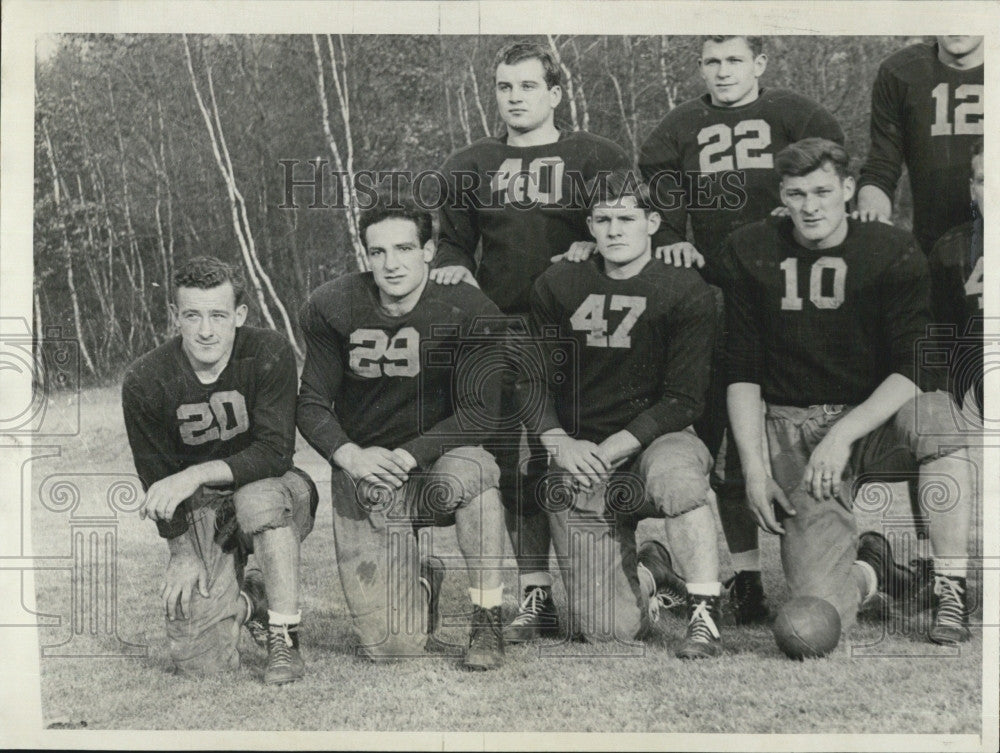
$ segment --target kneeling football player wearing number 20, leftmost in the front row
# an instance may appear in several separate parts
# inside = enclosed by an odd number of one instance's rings
[[[243,295],[239,273],[218,259],[177,269],[180,336],[129,366],[122,405],[146,489],[141,514],[170,547],[163,600],[174,664],[189,675],[235,669],[247,624],[267,645],[264,681],[283,684],[305,671],[299,542],[317,495],[292,467],[295,356],[278,333],[243,326]],[[250,552],[261,569],[244,578]]]

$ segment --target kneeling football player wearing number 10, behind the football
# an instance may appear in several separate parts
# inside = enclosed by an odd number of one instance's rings
[[[869,531],[859,544],[854,485],[915,474],[923,498],[946,480],[948,504],[927,510],[936,575],[948,584],[930,639],[964,641],[973,486],[966,451],[944,436],[954,435],[950,395],[917,386],[928,378],[914,357],[930,321],[927,263],[909,233],[848,218],[847,167],[832,141],[786,147],[775,169],[790,217],[726,241],[728,402],[747,498],[761,528],[781,534],[791,595],[830,602],[846,630],[876,591],[904,598],[919,585],[883,536]]]

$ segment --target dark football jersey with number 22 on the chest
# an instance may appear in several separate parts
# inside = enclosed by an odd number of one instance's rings
[[[639,152],[639,168],[663,208],[654,244],[686,240],[690,214],[711,279],[726,236],[781,205],[774,155],[808,136],[844,143],[830,113],[784,89],[762,89],[740,107],[713,105],[705,94],[671,110]]]

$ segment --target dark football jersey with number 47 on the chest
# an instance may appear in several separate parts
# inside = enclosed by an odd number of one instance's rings
[[[557,325],[575,341],[578,364],[576,380],[549,379],[539,433],[576,427],[601,442],[625,429],[645,447],[701,415],[717,313],[693,269],[652,260],[615,280],[600,256],[559,262],[535,282],[531,316],[536,331]]]

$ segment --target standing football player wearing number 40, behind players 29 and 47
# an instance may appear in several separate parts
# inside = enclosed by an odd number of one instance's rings
[[[497,54],[494,73],[497,109],[507,131],[480,139],[445,162],[449,193],[431,276],[442,284],[478,284],[504,314],[526,320],[531,285],[550,258],[589,237],[578,198],[584,184],[599,172],[627,166],[630,159],[607,139],[556,126],[562,73],[546,48],[509,44]],[[514,404],[517,368],[510,364],[504,372],[503,416],[532,412]],[[522,593],[519,612],[505,631],[511,643],[558,633],[548,571],[551,538],[536,493],[545,453],[534,427],[525,428],[526,478],[519,468],[519,427],[490,445],[500,465],[505,522]]]

